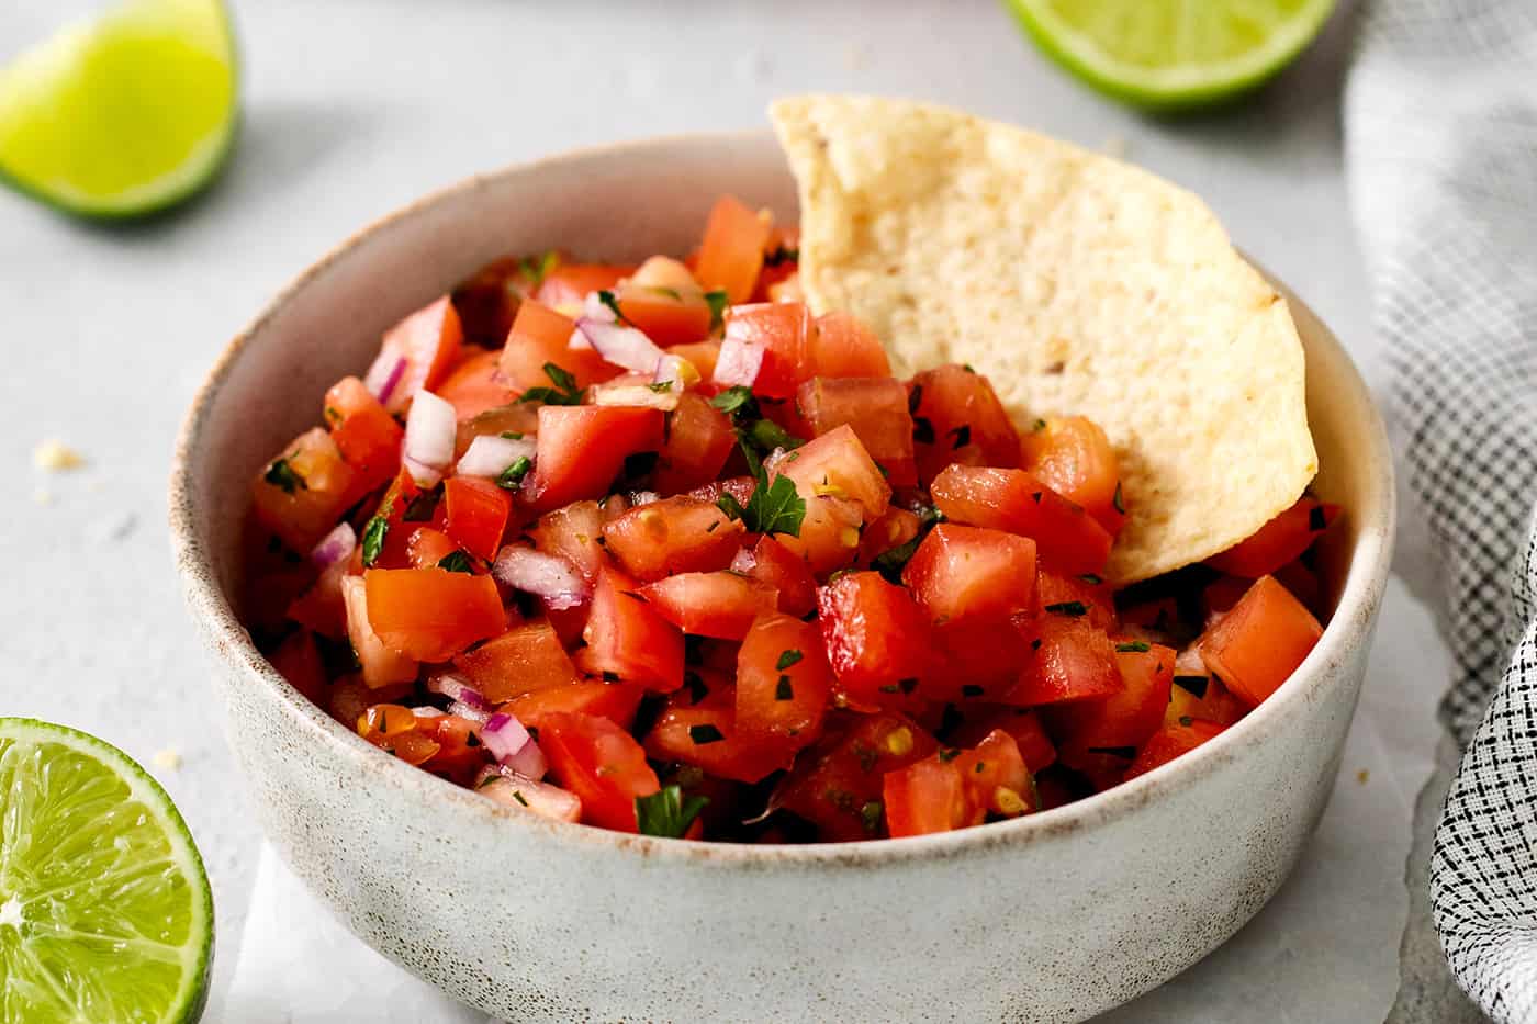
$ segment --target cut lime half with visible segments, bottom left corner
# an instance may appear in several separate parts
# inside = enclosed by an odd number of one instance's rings
[[[155,780],[0,718],[0,1022],[195,1021],[212,952],[203,859]]]

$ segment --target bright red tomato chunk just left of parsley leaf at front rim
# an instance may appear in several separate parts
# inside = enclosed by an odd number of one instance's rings
[[[607,718],[564,712],[543,721],[539,749],[555,781],[581,798],[583,821],[635,832],[635,798],[661,789],[641,744]]]

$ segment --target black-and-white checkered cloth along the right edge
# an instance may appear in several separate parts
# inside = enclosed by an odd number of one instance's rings
[[[1346,126],[1400,472],[1440,560],[1442,712],[1468,746],[1436,927],[1494,1019],[1537,1021],[1537,0],[1376,0]]]

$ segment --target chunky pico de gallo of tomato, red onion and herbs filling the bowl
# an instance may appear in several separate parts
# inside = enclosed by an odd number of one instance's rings
[[[853,841],[1017,818],[1197,747],[1322,633],[1303,495],[1114,590],[1090,418],[891,375],[796,235],[487,266],[386,332],[252,487],[244,617],[381,750],[622,832]]]

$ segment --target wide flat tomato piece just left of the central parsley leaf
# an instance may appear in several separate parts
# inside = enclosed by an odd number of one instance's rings
[[[638,580],[715,572],[742,546],[742,524],[709,501],[676,495],[630,509],[603,527],[610,555]]]

